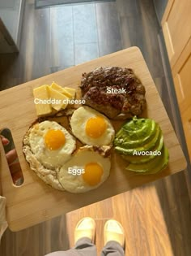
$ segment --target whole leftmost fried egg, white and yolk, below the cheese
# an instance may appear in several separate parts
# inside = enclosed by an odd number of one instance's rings
[[[76,147],[72,135],[54,121],[35,124],[29,134],[32,153],[44,167],[61,167],[70,158]]]

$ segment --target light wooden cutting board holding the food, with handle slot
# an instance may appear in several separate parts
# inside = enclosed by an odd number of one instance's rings
[[[127,165],[125,161],[117,154],[112,154],[111,174],[108,180],[98,189],[80,194],[57,191],[41,181],[30,170],[22,152],[23,136],[36,119],[32,89],[44,84],[49,85],[52,81],[57,82],[58,85],[76,88],[80,83],[83,72],[90,72],[100,66],[131,67],[142,80],[142,84],[146,87],[146,116],[155,119],[163,130],[165,145],[167,145],[170,154],[168,168],[157,175],[141,176],[134,172],[125,171]],[[112,197],[164,176],[172,175],[186,167],[185,156],[177,141],[172,124],[168,119],[142,54],[137,47],[108,54],[91,62],[4,90],[0,92],[0,98],[0,129],[11,129],[24,176],[24,182],[20,187],[12,184],[6,156],[0,143],[2,195],[7,200],[7,221],[12,231],[28,228],[57,215]]]

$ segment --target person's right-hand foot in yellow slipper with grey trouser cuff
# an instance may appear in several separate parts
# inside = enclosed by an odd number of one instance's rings
[[[124,256],[125,232],[121,223],[109,219],[104,225],[104,248],[101,256]]]

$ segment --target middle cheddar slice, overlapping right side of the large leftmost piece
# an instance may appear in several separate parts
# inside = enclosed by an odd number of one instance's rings
[[[51,105],[56,111],[65,109],[68,105],[68,98],[64,94],[59,93],[57,90],[53,89],[52,87],[49,87],[49,97],[51,98]]]

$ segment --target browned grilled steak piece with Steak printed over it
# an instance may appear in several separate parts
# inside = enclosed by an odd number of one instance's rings
[[[80,88],[86,105],[111,119],[141,115],[146,107],[145,88],[130,68],[98,67],[83,73]]]

